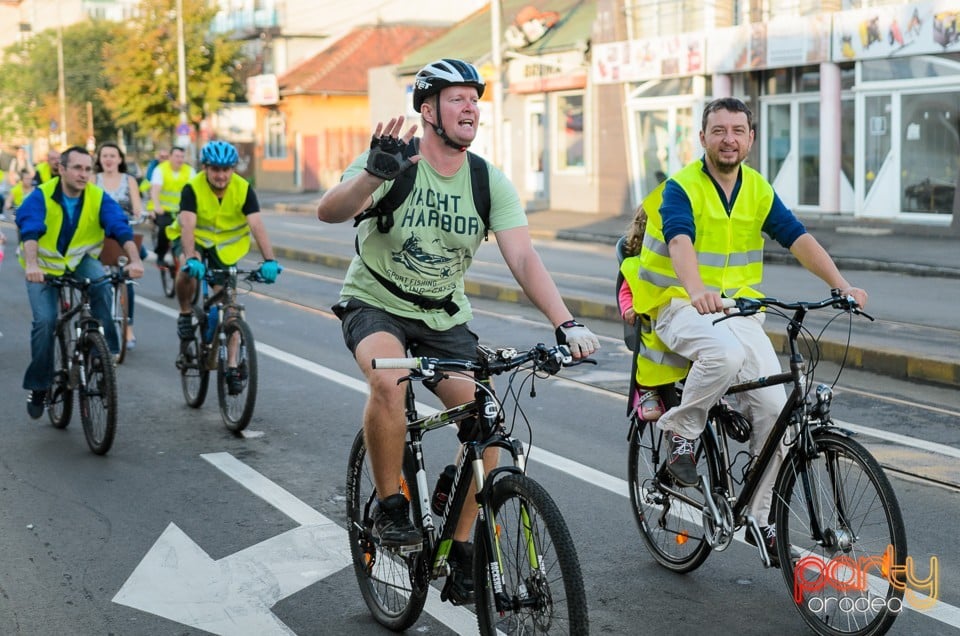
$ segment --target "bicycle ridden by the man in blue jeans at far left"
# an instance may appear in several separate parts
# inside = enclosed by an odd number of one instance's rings
[[[95,280],[48,276],[59,289],[59,316],[55,332],[53,382],[47,394],[47,413],[55,428],[66,428],[73,415],[77,392],[80,420],[90,450],[104,455],[117,431],[117,381],[110,350],[100,322],[90,310],[90,288],[109,279],[120,284],[124,272]]]

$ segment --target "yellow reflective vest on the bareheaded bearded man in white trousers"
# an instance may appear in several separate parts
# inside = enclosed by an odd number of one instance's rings
[[[773,205],[773,186],[759,172],[741,164],[742,181],[729,216],[717,195],[713,180],[703,171],[703,161],[694,161],[670,177],[687,197],[696,227],[696,252],[700,277],[708,289],[729,298],[760,298],[754,288],[763,279],[763,235],[761,229]],[[663,184],[661,184],[663,185]],[[644,201],[647,231],[640,252],[639,287],[634,292],[634,309],[654,319],[659,308],[672,298],[687,298],[670,260],[663,238],[660,203],[662,187]]]

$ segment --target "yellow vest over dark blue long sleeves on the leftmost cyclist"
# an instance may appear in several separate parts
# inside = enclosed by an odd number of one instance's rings
[[[61,254],[57,251],[57,240],[60,237],[60,230],[63,228],[65,214],[60,204],[53,199],[53,192],[57,189],[59,181],[59,177],[54,177],[39,186],[46,203],[45,222],[47,231],[37,239],[37,264],[43,270],[43,273],[52,276],[62,276],[68,269],[71,271],[76,269],[87,254],[93,258],[99,258],[105,237],[103,227],[100,225],[100,204],[103,202],[103,190],[92,183],[88,183],[83,189],[83,205],[77,218],[77,231],[70,239],[67,253]],[[26,267],[22,250],[20,265]]]

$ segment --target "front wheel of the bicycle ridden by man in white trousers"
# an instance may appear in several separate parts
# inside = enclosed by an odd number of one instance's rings
[[[803,620],[829,636],[883,634],[902,609],[907,537],[900,505],[872,455],[819,431],[777,478],[774,508],[783,578]]]

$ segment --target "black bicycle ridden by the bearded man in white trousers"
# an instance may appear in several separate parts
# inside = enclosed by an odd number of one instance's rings
[[[903,517],[880,465],[831,420],[832,387],[820,384],[811,391],[819,338],[803,325],[811,310],[823,308],[839,310],[837,316],[846,312],[850,320],[853,314],[870,316],[839,290],[816,302],[738,298],[728,299],[726,306],[736,311],[719,320],[761,310],[787,318],[789,343],[789,371],[736,384],[726,395],[780,384],[790,385],[792,392],[756,457],[746,450],[731,454],[731,440],[745,442],[750,424],[727,401],[714,406],[696,444],[696,488],[673,481],[664,466],[666,436],[634,411],[628,474],[640,536],[657,562],[682,573],[699,567],[711,550],[725,550],[735,531],[745,527],[769,567],[760,531],[767,520],[754,519],[748,504],[783,440],[789,450],[773,496],[776,555],[800,615],[818,634],[882,634],[896,620],[904,594],[904,581],[896,574],[907,557]],[[809,369],[798,346],[801,334],[811,336],[802,339],[809,340]]]

